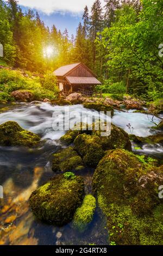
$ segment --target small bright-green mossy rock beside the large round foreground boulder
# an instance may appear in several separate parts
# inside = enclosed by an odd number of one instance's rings
[[[85,196],[83,204],[76,210],[73,217],[73,226],[79,232],[84,232],[93,220],[96,210],[96,199],[91,194]]]

